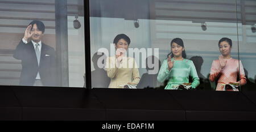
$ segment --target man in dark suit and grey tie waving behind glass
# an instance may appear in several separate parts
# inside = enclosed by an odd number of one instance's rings
[[[22,60],[22,86],[56,86],[55,50],[41,41],[44,28],[39,20],[28,24],[23,39],[14,51],[14,58]]]

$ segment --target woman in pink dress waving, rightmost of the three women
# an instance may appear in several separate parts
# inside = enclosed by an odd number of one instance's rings
[[[238,88],[233,90],[232,87],[226,87],[224,90],[224,86],[227,83],[241,82],[241,85],[246,84],[245,71],[243,70],[242,62],[230,56],[232,40],[223,37],[218,41],[218,48],[222,55],[212,62],[212,67],[210,68],[210,81],[218,81],[216,91],[238,91]],[[239,77],[238,74],[240,74],[240,81],[237,81],[237,77]]]

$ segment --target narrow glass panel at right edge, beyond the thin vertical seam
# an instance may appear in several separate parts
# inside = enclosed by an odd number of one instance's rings
[[[238,21],[239,50],[240,50],[240,78],[242,91],[255,91],[256,80],[256,1],[240,1],[238,8],[241,8],[241,20]],[[246,81],[245,81],[246,78]]]

